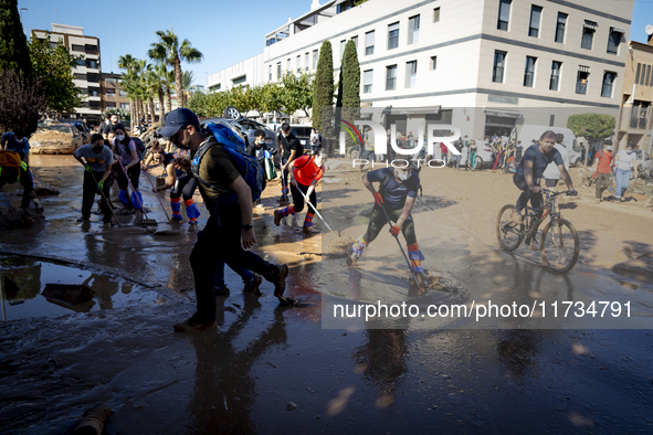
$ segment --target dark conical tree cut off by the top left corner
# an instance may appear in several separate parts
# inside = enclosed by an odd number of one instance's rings
[[[0,71],[18,70],[32,75],[28,39],[20,22],[17,0],[0,0]]]

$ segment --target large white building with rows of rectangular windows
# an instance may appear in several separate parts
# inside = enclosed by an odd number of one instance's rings
[[[423,107],[425,119],[477,138],[566,127],[571,113],[618,114],[632,10],[614,0],[314,1],[265,35],[262,78],[247,82],[315,72],[325,40],[337,72],[352,39],[364,106]]]

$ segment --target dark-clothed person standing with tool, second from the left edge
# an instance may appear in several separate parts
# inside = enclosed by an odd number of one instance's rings
[[[91,136],[91,142],[77,148],[74,152],[75,159],[84,167],[84,184],[82,190],[82,220],[91,220],[91,209],[95,195],[102,195],[99,210],[104,215],[103,222],[107,227],[112,226],[112,209],[107,202],[114,183],[112,165],[114,155],[109,147],[104,145],[104,137],[99,134]],[[82,160],[84,159],[84,160]],[[104,193],[104,195],[101,193]],[[109,200],[110,201],[110,200]]]

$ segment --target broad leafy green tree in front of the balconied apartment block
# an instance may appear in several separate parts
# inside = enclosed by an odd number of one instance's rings
[[[73,83],[73,68],[78,60],[69,53],[62,40],[56,46],[50,43],[50,34],[44,40],[32,38],[29,43],[32,74],[41,78],[41,86],[48,102],[48,110],[73,112],[82,104],[82,89]]]

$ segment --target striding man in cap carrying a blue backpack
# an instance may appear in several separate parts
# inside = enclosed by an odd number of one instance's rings
[[[187,108],[178,108],[168,114],[166,127],[160,131],[177,147],[191,151],[191,170],[210,213],[207,226],[198,233],[198,241],[190,254],[197,312],[185,322],[175,325],[175,330],[179,332],[215,327],[213,273],[219,261],[231,268],[242,267],[262,275],[274,284],[274,296],[282,304],[293,304],[292,299],[283,296],[288,267],[285,264],[277,266],[245,251],[256,243],[252,225],[252,200],[257,197],[254,198],[252,192],[261,194],[260,184],[255,185],[256,180],[262,181],[261,167],[255,158],[252,161],[249,160],[251,156],[242,153],[244,149],[238,142],[242,142],[242,139],[233,132],[230,136],[220,126],[212,127],[214,129],[201,129],[196,114]]]

